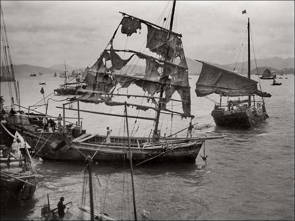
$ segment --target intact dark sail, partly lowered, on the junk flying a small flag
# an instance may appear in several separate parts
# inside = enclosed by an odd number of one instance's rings
[[[204,97],[213,93],[223,96],[255,94],[260,97],[271,97],[270,94],[258,90],[257,84],[258,82],[255,80],[203,63],[195,91],[197,97]]]

